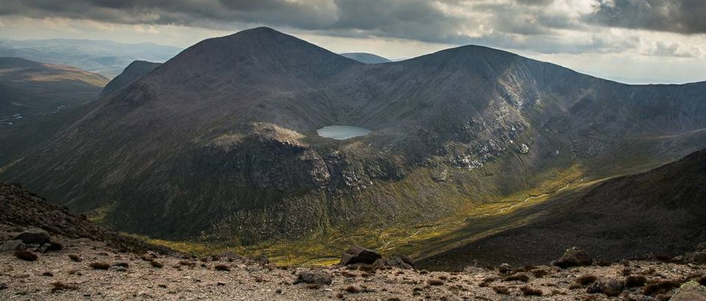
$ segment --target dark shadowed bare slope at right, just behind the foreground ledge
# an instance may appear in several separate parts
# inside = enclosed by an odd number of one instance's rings
[[[706,241],[705,177],[706,149],[702,149],[645,173],[558,195],[551,205],[517,214],[539,213],[529,224],[436,254],[419,265],[462,269],[474,262],[542,264],[575,245],[609,262],[650,255],[671,258]]]

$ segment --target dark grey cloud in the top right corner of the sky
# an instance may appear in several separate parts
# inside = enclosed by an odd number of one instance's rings
[[[706,33],[704,0],[604,1],[588,21],[614,27],[683,34]]]

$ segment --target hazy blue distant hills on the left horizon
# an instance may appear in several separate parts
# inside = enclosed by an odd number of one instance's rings
[[[0,39],[0,56],[76,66],[113,78],[136,60],[167,61],[182,49],[152,43],[92,39]]]

